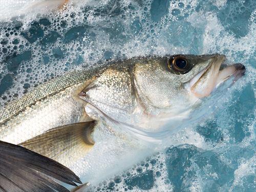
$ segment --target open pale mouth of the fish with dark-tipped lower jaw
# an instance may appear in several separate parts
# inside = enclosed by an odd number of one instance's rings
[[[216,54],[211,58],[209,65],[188,82],[190,92],[197,98],[203,98],[220,86],[224,81],[233,77],[233,82],[245,74],[245,66],[234,63],[226,66],[223,61],[225,55]]]

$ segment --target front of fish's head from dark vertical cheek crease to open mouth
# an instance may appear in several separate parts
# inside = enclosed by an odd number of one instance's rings
[[[155,131],[186,125],[203,98],[230,77],[233,82],[245,73],[243,65],[224,66],[224,60],[220,54],[172,55],[136,63],[137,97],[148,116],[140,125]]]

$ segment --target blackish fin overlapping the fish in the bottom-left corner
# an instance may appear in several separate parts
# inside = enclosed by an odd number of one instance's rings
[[[73,186],[81,183],[62,164],[22,146],[0,141],[0,191],[69,191],[59,182]]]

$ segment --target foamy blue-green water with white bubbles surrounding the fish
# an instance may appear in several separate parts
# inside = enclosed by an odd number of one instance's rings
[[[218,52],[246,66],[204,122],[88,191],[256,190],[256,1],[86,1],[27,14],[4,5],[2,14],[14,17],[1,16],[1,105],[66,71],[120,57]]]

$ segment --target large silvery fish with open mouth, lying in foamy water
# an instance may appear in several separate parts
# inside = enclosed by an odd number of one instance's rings
[[[65,73],[0,110],[0,140],[63,164],[83,183],[100,181],[198,122],[203,98],[245,74],[241,63],[224,60],[139,56]]]

